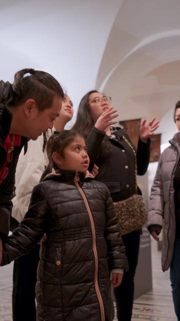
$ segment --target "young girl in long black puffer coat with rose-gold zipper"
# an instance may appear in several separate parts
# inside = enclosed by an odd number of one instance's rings
[[[85,178],[86,145],[75,131],[47,142],[50,173],[3,248],[2,265],[28,253],[46,232],[37,270],[37,321],[111,321],[109,270],[118,286],[127,259],[107,187]]]

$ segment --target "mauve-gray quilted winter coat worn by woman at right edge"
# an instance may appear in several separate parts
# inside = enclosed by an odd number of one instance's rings
[[[180,155],[180,133],[176,133],[160,155],[158,167],[151,187],[148,206],[147,227],[164,221],[164,242],[162,248],[162,270],[169,268],[175,239],[175,210],[173,177]]]

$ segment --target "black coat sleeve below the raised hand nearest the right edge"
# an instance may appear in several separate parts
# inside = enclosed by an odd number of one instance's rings
[[[149,164],[149,158],[150,158],[150,139],[147,139],[147,142],[143,142],[142,140],[138,140],[137,145],[137,174],[138,175],[144,175],[148,164]]]

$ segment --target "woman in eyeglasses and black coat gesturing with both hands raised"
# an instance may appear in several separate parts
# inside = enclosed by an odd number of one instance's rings
[[[124,129],[114,127],[118,116],[110,104],[111,98],[92,90],[81,99],[73,129],[87,137],[90,158],[89,170],[95,162],[99,172],[95,179],[110,190],[114,202],[125,200],[136,193],[135,158],[130,137]],[[158,127],[153,118],[148,125],[143,120],[139,130],[136,164],[138,175],[143,175],[149,162],[149,136]],[[124,139],[124,138],[125,139]],[[127,143],[130,143],[130,145]],[[132,147],[132,148],[131,148]],[[140,190],[138,189],[138,193]],[[134,274],[137,265],[141,230],[122,235],[129,269],[124,273],[121,285],[114,289],[118,321],[130,321],[132,315]]]

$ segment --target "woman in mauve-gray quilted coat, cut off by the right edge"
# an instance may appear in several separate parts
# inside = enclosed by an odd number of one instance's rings
[[[150,193],[147,226],[158,241],[164,221],[162,270],[170,267],[172,298],[177,320],[180,321],[180,101],[174,108],[174,121],[178,132],[160,155]]]

